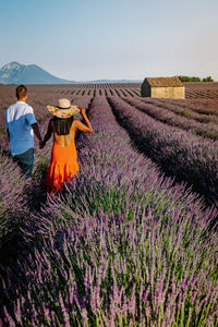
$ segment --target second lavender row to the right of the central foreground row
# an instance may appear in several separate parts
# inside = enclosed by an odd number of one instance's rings
[[[135,107],[136,109],[140,109],[141,111],[146,112],[150,117],[167,123],[171,126],[177,126],[179,129],[190,131],[191,133],[195,135],[199,135],[202,137],[207,137],[211,140],[218,140],[218,125],[211,124],[211,123],[199,123],[195,121],[194,119],[187,119],[185,117],[180,117],[175,114],[170,109],[164,109],[160,108],[160,105],[155,104],[145,104],[142,102],[140,99],[134,98],[122,98],[124,101],[126,101],[129,105]],[[168,105],[166,105],[167,108]]]

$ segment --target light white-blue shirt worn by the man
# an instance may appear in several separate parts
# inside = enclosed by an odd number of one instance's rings
[[[10,150],[12,155],[21,155],[34,148],[34,131],[36,123],[34,110],[26,102],[17,101],[5,111],[7,129],[10,133]]]

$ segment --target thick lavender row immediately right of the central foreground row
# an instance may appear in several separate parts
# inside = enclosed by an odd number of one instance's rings
[[[187,182],[206,201],[218,194],[218,143],[158,122],[125,101],[110,97],[113,111],[138,147],[167,174]]]

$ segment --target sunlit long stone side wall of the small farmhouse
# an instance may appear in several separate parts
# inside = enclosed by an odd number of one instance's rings
[[[184,99],[184,86],[181,87],[152,87],[152,98]]]

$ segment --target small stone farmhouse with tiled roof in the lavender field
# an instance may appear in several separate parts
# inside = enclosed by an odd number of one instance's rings
[[[141,96],[150,98],[184,99],[185,88],[179,77],[146,77]]]

